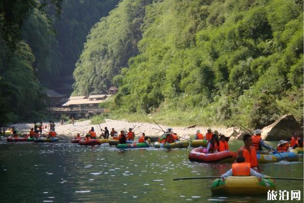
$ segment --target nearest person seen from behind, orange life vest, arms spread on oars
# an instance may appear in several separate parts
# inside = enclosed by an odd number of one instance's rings
[[[229,176],[256,176],[258,178],[265,177],[263,174],[257,173],[250,167],[250,163],[245,162],[245,158],[239,156],[236,163],[232,164],[232,169],[221,175],[221,178]]]

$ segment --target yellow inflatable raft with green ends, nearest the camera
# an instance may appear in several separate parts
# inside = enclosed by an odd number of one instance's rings
[[[211,192],[218,195],[266,195],[269,190],[276,190],[275,181],[255,176],[229,176],[211,185]]]

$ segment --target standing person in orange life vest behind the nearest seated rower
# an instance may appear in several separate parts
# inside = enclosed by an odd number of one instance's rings
[[[243,137],[245,146],[240,147],[237,151],[237,157],[243,156],[245,162],[250,163],[254,171],[259,172],[258,161],[255,148],[252,146],[252,138],[250,134],[245,134]]]

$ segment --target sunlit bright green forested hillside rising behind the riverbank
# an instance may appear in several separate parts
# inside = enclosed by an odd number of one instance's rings
[[[125,0],[94,25],[74,94],[117,85],[111,109],[189,123],[303,120],[303,1],[148,3]]]

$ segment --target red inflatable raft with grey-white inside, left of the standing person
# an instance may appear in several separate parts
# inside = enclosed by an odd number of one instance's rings
[[[204,150],[205,149],[205,150]],[[207,151],[204,147],[198,147],[188,154],[189,160],[199,162],[228,162],[232,163],[237,154],[233,151],[221,151],[212,154],[204,153]]]

